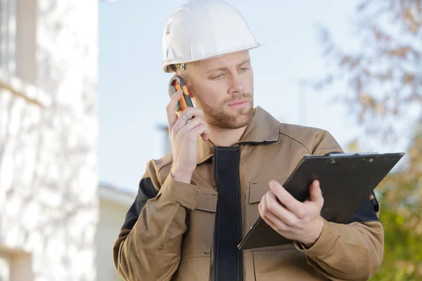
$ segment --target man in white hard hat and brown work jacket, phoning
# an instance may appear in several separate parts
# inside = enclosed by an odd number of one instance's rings
[[[283,189],[303,155],[343,150],[327,131],[253,107],[258,46],[222,0],[190,1],[168,20],[162,66],[186,79],[196,107],[177,117],[181,91],[168,103],[172,155],[148,162],[113,249],[124,280],[367,280],[381,265],[369,200],[338,224],[320,216],[317,181],[306,202]],[[238,250],[259,216],[295,242]]]

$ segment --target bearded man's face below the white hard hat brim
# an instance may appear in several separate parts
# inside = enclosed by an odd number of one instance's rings
[[[248,51],[200,60],[186,67],[193,103],[221,129],[247,126],[253,114],[253,72]]]

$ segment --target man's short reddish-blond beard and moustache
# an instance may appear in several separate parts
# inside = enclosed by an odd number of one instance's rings
[[[237,100],[246,100],[248,105],[244,108],[236,110],[236,113],[225,112],[226,108],[230,103],[234,103]],[[210,107],[204,105],[203,101],[195,97],[195,103],[197,107],[200,107],[204,111],[205,122],[210,126],[214,126],[219,129],[239,129],[247,126],[252,120],[253,115],[253,94],[242,93],[233,98],[227,98],[222,101],[221,107]],[[250,105],[249,105],[250,103]]]

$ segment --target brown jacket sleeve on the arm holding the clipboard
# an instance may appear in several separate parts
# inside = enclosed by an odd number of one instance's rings
[[[326,131],[316,133],[313,154],[343,152]],[[319,239],[309,249],[295,242],[308,263],[330,280],[368,280],[381,266],[384,252],[383,226],[374,195],[362,202],[345,224],[324,220]]]

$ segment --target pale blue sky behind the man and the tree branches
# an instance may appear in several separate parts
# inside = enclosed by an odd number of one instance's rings
[[[146,163],[164,155],[165,135],[159,126],[167,122],[167,85],[172,74],[161,68],[162,31],[184,2],[100,2],[98,159],[104,183],[136,191]],[[352,37],[357,0],[228,2],[264,44],[250,51],[255,106],[281,122],[326,129],[343,147],[362,135],[347,107],[333,101],[344,91],[341,85],[324,91],[300,86],[300,81],[323,77],[327,69],[319,25],[329,27],[345,50],[359,48]]]

